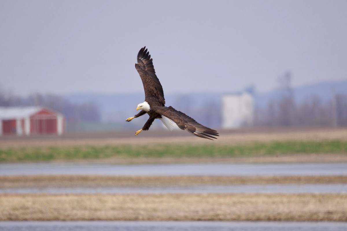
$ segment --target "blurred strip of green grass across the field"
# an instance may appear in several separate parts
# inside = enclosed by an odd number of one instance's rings
[[[0,149],[0,162],[108,158],[192,158],[254,157],[310,153],[347,153],[347,141],[275,141],[234,145],[158,144],[62,147],[20,147]]]

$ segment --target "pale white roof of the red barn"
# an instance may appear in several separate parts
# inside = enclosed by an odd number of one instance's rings
[[[42,109],[42,107],[0,107],[0,119],[26,118]]]

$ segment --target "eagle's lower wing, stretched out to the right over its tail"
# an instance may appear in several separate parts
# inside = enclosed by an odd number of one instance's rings
[[[216,130],[205,127],[204,125],[199,124],[193,118],[187,116],[183,112],[176,110],[173,107],[152,107],[152,111],[159,113],[160,115],[166,116],[172,121],[174,121],[179,128],[182,130],[187,130],[189,133],[196,135],[198,137],[206,139],[217,139],[219,136]]]

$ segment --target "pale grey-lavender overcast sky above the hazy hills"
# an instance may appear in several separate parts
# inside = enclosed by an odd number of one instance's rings
[[[0,85],[16,95],[143,92],[147,46],[164,93],[347,79],[347,1],[0,0]]]

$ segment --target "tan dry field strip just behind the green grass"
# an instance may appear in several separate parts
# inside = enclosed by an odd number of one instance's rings
[[[37,136],[37,137],[2,137],[0,148],[19,147],[45,147],[45,146],[103,146],[103,145],[139,145],[162,143],[213,143],[213,144],[240,144],[247,142],[271,141],[322,141],[322,140],[347,140],[346,128],[296,128],[296,129],[243,129],[220,130],[217,140],[210,141],[199,139],[184,131],[147,131],[134,136],[132,131],[114,133],[65,134],[64,136]]]

